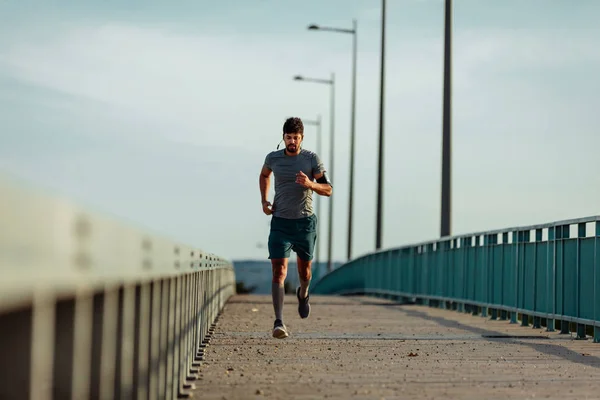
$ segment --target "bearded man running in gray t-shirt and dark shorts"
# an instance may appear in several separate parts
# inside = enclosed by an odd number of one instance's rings
[[[313,212],[313,192],[331,196],[332,185],[319,156],[301,148],[304,125],[300,118],[288,118],[283,124],[285,148],[265,158],[259,186],[263,212],[271,215],[269,259],[273,269],[271,293],[275,323],[273,337],[283,339],[288,332],[283,323],[284,282],[291,250],[297,255],[300,286],[296,289],[298,314],[308,318],[308,287],[311,263],[317,239],[317,216]],[[275,176],[275,198],[268,201],[271,172]]]

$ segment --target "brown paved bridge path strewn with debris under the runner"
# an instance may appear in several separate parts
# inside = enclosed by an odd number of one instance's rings
[[[201,399],[598,399],[600,343],[368,297],[231,298],[196,381]],[[493,338],[494,335],[521,338]]]

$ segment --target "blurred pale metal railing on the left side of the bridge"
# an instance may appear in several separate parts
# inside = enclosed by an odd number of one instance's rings
[[[0,399],[175,399],[231,263],[0,181]]]

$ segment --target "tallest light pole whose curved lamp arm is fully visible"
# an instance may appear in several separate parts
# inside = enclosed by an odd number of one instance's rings
[[[352,258],[352,202],[354,198],[354,142],[356,140],[356,19],[352,20],[352,29],[332,28],[328,26],[309,25],[309,30],[319,30],[352,34],[352,112],[350,117],[350,195],[348,196],[348,249],[347,259]]]

